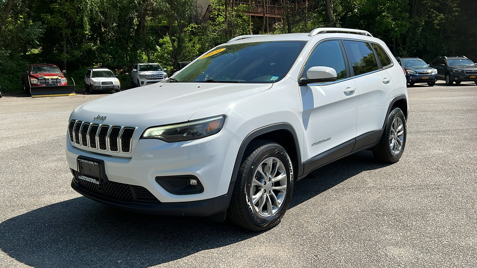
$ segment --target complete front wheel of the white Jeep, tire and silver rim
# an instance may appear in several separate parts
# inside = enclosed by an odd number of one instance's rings
[[[256,232],[275,227],[290,205],[292,191],[293,167],[285,149],[272,141],[254,141],[240,165],[228,218]]]

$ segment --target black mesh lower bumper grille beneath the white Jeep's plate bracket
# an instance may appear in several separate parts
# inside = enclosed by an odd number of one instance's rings
[[[76,171],[73,170],[73,174]],[[78,179],[77,175],[74,180],[78,186],[92,192],[98,196],[108,197],[118,201],[145,201],[145,202],[159,202],[149,190],[143,186],[130,185],[125,183],[109,181],[104,185],[97,185],[82,179]]]

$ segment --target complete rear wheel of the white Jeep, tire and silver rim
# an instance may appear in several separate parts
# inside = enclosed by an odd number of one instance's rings
[[[387,116],[383,136],[373,151],[374,157],[384,163],[399,161],[406,145],[406,129],[403,111],[394,108]]]

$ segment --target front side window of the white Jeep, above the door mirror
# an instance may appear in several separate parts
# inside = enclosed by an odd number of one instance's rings
[[[333,68],[336,71],[336,80],[346,78],[346,67],[344,65],[343,53],[339,41],[331,40],[319,44],[311,53],[310,58],[305,64],[304,76],[308,69],[313,66],[326,66]]]

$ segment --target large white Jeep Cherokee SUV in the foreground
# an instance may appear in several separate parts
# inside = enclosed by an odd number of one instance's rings
[[[367,31],[239,36],[164,82],[76,108],[71,185],[111,206],[261,231],[311,171],[364,149],[397,162],[407,112],[403,69]]]

